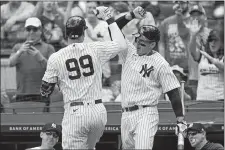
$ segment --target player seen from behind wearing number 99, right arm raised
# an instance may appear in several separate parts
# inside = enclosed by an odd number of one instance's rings
[[[103,134],[107,112],[102,104],[102,65],[126,41],[107,7],[97,7],[98,18],[109,24],[112,41],[83,43],[87,28],[84,18],[70,17],[66,23],[69,45],[52,54],[43,77],[41,94],[49,97],[56,83],[64,98],[63,149],[94,149]]]

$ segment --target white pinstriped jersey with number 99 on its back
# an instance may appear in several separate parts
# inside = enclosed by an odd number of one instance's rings
[[[51,55],[43,80],[58,82],[64,104],[102,97],[102,65],[120,51],[116,42],[71,44]]]

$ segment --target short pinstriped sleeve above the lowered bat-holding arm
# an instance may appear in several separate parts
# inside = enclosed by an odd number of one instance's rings
[[[168,63],[160,68],[158,80],[162,86],[163,93],[180,87],[180,83]]]

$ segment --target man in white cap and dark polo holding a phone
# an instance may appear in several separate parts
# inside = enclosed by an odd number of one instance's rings
[[[9,58],[10,66],[16,67],[16,100],[40,100],[40,86],[47,59],[55,50],[52,45],[42,41],[42,24],[38,18],[28,18],[25,28],[26,42],[16,44]]]

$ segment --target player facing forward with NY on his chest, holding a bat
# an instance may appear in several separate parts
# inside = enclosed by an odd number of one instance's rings
[[[122,28],[132,18],[144,15],[145,11],[138,7],[116,22]],[[121,138],[124,149],[152,149],[159,123],[157,104],[162,93],[166,93],[171,101],[177,118],[177,133],[187,127],[179,92],[180,83],[168,62],[154,51],[159,40],[157,27],[142,26],[135,34],[134,44],[127,40],[128,50],[120,53]]]

